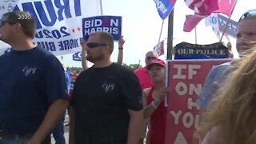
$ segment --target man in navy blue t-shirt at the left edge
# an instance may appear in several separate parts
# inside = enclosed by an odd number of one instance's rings
[[[62,65],[34,45],[31,14],[3,14],[0,34],[13,48],[0,56],[0,143],[50,144],[50,133],[69,105]]]

